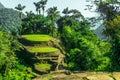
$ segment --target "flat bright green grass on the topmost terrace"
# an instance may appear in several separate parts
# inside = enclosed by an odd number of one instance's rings
[[[46,42],[52,40],[52,37],[50,37],[49,35],[42,35],[42,34],[22,35],[22,38],[33,42]]]

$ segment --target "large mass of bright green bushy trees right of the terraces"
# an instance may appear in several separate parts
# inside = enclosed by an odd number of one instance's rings
[[[64,26],[61,36],[68,52],[68,67],[72,70],[109,70],[111,44],[100,41],[89,25],[73,21],[71,27]]]

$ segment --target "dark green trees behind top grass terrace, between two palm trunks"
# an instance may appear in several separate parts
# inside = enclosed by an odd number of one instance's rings
[[[51,34],[50,17],[36,15],[32,12],[27,12],[27,17],[23,19],[22,34],[42,33]]]

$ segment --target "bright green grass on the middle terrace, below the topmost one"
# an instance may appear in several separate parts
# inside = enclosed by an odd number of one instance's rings
[[[32,53],[50,53],[50,52],[55,52],[58,49],[57,48],[53,48],[53,47],[29,47],[27,48],[29,52]]]

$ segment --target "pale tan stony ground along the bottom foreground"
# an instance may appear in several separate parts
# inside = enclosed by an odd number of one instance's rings
[[[33,80],[120,80],[120,72],[51,72]]]

